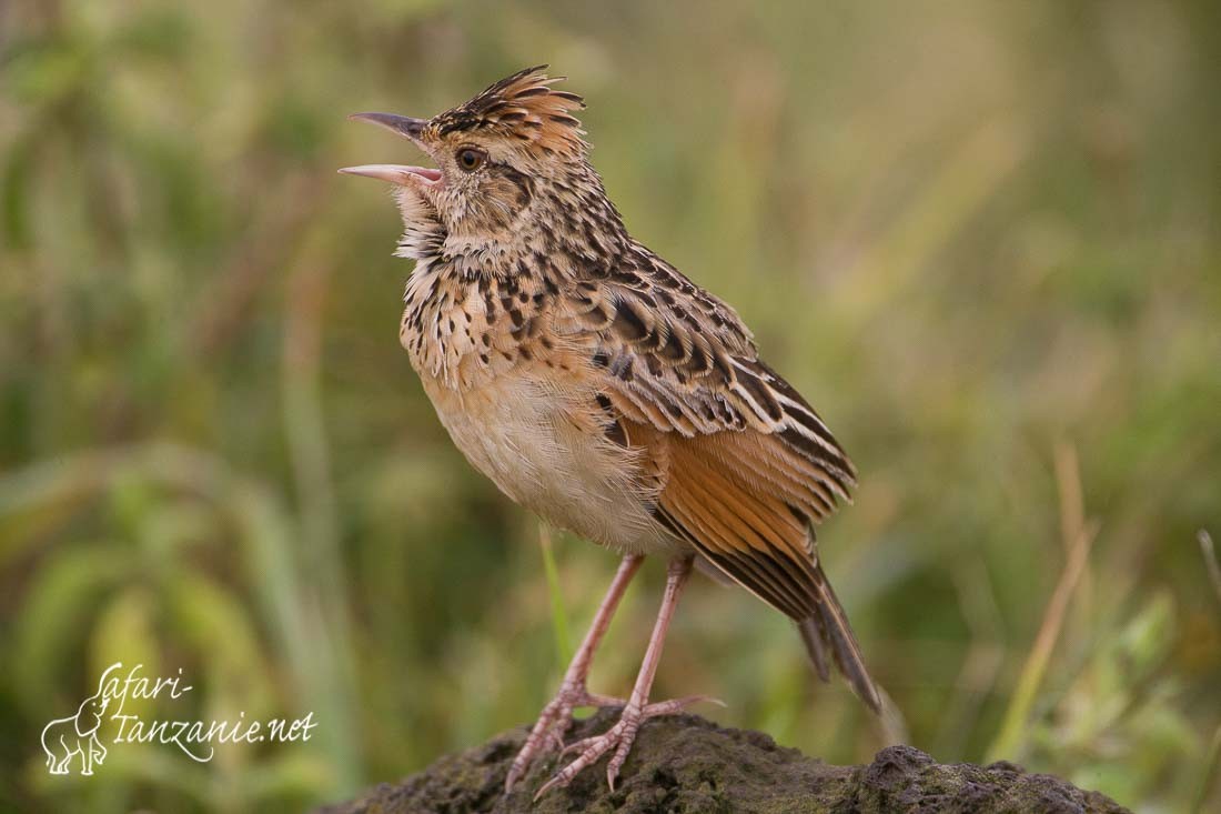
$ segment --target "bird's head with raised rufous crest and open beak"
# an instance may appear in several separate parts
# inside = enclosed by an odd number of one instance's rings
[[[436,166],[369,164],[341,172],[396,185],[408,233],[433,220],[451,244],[496,243],[553,221],[557,207],[604,193],[573,116],[585,103],[553,88],[563,77],[548,78],[546,67],[519,71],[431,119],[353,115],[405,137]]]

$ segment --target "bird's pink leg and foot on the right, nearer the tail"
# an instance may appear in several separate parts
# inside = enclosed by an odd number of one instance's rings
[[[624,761],[628,759],[628,752],[631,749],[632,741],[636,739],[636,732],[646,719],[657,715],[670,715],[695,702],[713,700],[705,695],[692,695],[690,698],[678,698],[656,704],[648,703],[648,692],[653,686],[653,676],[657,675],[657,664],[662,659],[662,645],[665,642],[665,632],[670,627],[670,618],[674,616],[674,609],[678,605],[679,594],[683,593],[683,585],[686,583],[687,577],[691,576],[691,562],[692,557],[690,556],[670,560],[670,566],[665,574],[665,595],[662,599],[662,607],[657,612],[653,636],[648,639],[645,661],[640,665],[640,672],[636,675],[636,686],[632,688],[631,698],[628,699],[628,704],[619,716],[619,722],[602,735],[578,741],[567,747],[564,752],[579,750],[580,755],[547,781],[538,790],[535,799],[538,799],[538,797],[551,788],[567,786],[581,769],[597,763],[602,755],[612,749],[614,749],[614,755],[610,758],[609,765],[607,765],[607,783],[613,790],[615,777],[619,776],[619,769],[623,768]]]

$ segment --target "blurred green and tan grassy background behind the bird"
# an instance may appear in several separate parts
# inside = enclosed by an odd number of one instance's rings
[[[556,535],[548,590],[398,345],[386,191],[335,174],[419,159],[347,114],[549,62],[631,231],[853,455],[822,548],[902,715],[702,578],[657,695],[1221,810],[1219,9],[0,4],[0,808],[297,810],[551,697],[615,559]],[[593,689],[630,687],[662,571]],[[148,717],[317,728],[50,777],[42,727],[114,661],[195,687]]]

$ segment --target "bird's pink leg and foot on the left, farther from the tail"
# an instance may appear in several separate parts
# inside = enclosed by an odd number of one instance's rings
[[[625,556],[623,562],[619,563],[619,571],[615,572],[614,579],[610,581],[610,587],[607,588],[607,595],[602,599],[602,604],[598,605],[597,612],[593,614],[593,621],[590,623],[590,629],[585,634],[581,647],[576,649],[573,661],[568,665],[568,671],[564,673],[564,681],[559,686],[559,692],[543,706],[537,722],[535,722],[534,728],[530,730],[530,735],[526,737],[525,744],[518,752],[518,757],[513,759],[509,775],[504,779],[504,791],[513,788],[530,766],[530,761],[540,752],[545,750],[548,746],[553,746],[557,749],[564,746],[564,732],[568,731],[568,727],[573,722],[573,710],[575,708],[614,706],[623,703],[618,698],[607,698],[590,693],[585,688],[585,680],[590,675],[593,651],[597,650],[598,643],[602,642],[607,628],[610,627],[610,617],[614,616],[614,611],[619,606],[619,600],[623,599],[624,592],[628,590],[628,583],[636,576],[636,571],[640,570],[642,561],[643,557],[641,555],[631,554]]]

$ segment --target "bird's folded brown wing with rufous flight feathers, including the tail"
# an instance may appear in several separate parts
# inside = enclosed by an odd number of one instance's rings
[[[872,708],[877,691],[814,546],[855,469],[830,430],[757,357],[734,310],[637,247],[578,284],[569,329],[593,339],[625,434],[667,462],[654,507],[672,533],[799,623],[819,675],[830,650]],[[642,431],[632,431],[632,425]]]

